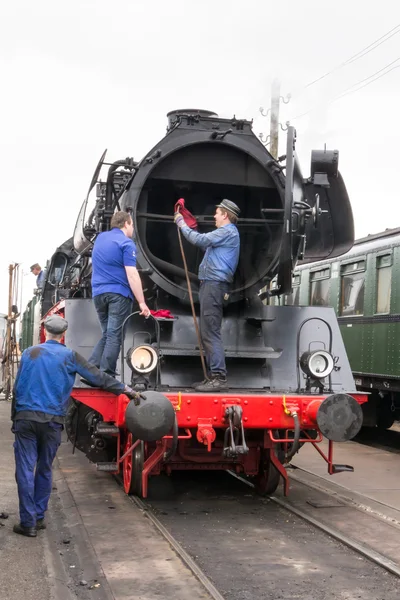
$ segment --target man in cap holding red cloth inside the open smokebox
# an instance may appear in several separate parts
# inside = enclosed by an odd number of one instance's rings
[[[198,392],[213,392],[228,387],[225,353],[221,336],[224,300],[229,297],[240,252],[240,238],[236,227],[239,207],[231,200],[222,200],[214,215],[217,229],[198,233],[188,227],[175,213],[175,223],[184,237],[206,253],[199,267],[200,279],[200,333],[210,372],[210,379],[195,386]]]

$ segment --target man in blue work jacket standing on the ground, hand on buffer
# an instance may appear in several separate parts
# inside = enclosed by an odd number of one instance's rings
[[[61,343],[67,327],[62,317],[46,319],[46,342],[24,351],[14,385],[11,420],[20,512],[14,532],[27,537],[36,537],[37,529],[46,527],[51,467],[76,374],[96,387],[139,401],[130,387],[102,373]]]

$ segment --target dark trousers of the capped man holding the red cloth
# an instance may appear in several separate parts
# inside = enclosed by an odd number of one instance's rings
[[[225,281],[200,283],[200,334],[211,375],[226,377],[225,352],[221,326],[224,296],[230,285]]]

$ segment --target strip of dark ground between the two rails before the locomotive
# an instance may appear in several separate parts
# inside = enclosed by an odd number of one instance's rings
[[[187,484],[151,505],[227,600],[399,598],[395,576],[228,476]]]

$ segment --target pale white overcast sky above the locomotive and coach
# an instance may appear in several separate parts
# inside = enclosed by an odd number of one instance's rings
[[[282,94],[301,90],[398,23],[394,0],[3,2],[0,312],[9,263],[29,273],[72,235],[105,148],[109,160],[139,160],[183,107],[254,118],[268,133],[258,109],[274,77]],[[284,123],[320,106],[293,121],[303,174],[312,148],[339,149],[357,237],[400,225],[400,69],[327,101],[398,57],[400,33],[281,108]],[[34,277],[23,281],[24,307]]]

